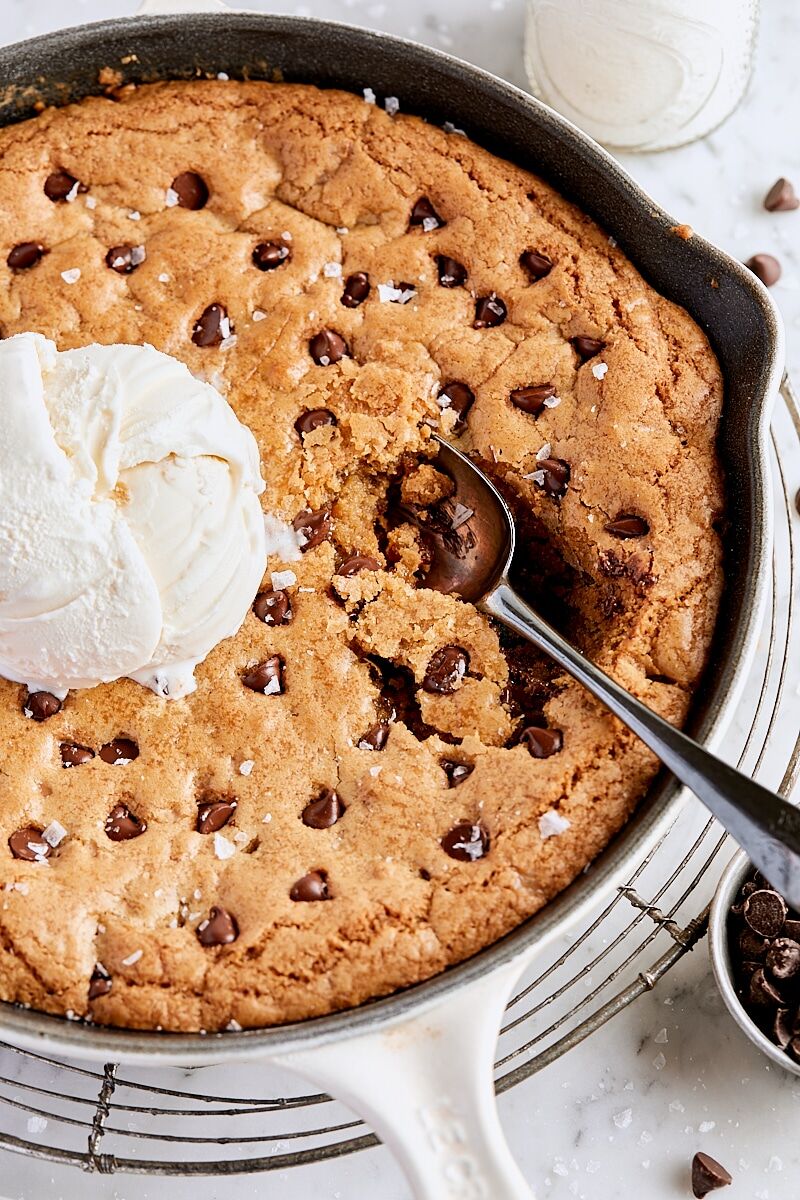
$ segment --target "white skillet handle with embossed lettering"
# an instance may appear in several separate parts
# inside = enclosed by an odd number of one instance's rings
[[[420,1015],[276,1061],[363,1117],[415,1200],[534,1200],[500,1128],[492,1078],[523,966],[507,964]]]

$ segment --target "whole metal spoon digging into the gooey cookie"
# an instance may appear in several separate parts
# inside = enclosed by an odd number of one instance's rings
[[[793,908],[800,908],[800,810],[657,716],[516,594],[509,582],[515,552],[515,521],[509,505],[469,458],[441,438],[437,440],[438,466],[456,484],[450,508],[457,516],[455,532],[432,529],[435,553],[426,587],[469,600],[569,671],[703,800],[758,870]]]

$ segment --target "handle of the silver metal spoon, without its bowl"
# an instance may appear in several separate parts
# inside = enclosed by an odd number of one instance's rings
[[[549,654],[642,738],[666,767],[703,800],[758,870],[800,908],[800,810],[716,758],[657,716],[570,646],[505,581],[481,608]]]

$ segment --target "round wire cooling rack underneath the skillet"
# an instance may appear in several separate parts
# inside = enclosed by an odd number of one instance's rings
[[[789,793],[799,772],[800,408],[788,382],[771,431],[775,550],[764,628],[726,740],[747,773]],[[795,662],[798,666],[795,667]],[[627,886],[537,961],[511,1000],[497,1088],[589,1037],[703,937],[727,858],[720,827],[690,803]],[[269,1088],[265,1081],[269,1081]],[[103,1070],[0,1044],[0,1150],[89,1171],[161,1176],[285,1169],[365,1150],[377,1138],[338,1102],[264,1064]],[[265,1096],[265,1090],[273,1094]],[[258,1097],[253,1099],[253,1096]]]

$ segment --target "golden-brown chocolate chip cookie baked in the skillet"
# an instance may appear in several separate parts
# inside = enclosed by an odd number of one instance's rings
[[[426,589],[426,526],[465,518],[431,434],[512,504],[523,593],[680,722],[723,503],[688,316],[535,176],[282,84],[0,131],[0,271],[6,338],[150,344],[225,397],[269,542],[182,698],[0,680],[0,996],[142,1028],[307,1018],[464,959],[581,872],[656,763]]]

